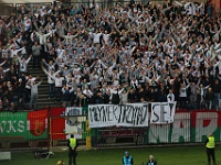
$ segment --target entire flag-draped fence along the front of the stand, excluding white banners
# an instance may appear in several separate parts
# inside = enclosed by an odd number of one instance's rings
[[[180,110],[175,113],[172,123],[164,124],[150,123],[150,118],[151,110],[148,110],[148,123],[145,127],[90,128],[88,107],[0,112],[0,150],[56,150],[66,146],[70,134],[75,134],[80,144],[86,148],[202,143],[211,132],[217,141],[221,141],[221,111]]]

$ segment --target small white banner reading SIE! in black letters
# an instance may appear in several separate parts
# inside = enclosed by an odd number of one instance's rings
[[[151,102],[151,124],[172,123],[177,102]]]

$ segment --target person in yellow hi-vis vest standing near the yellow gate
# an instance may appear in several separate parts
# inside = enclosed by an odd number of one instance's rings
[[[78,146],[76,139],[71,134],[71,139],[67,142],[69,146],[69,165],[76,165],[76,148]]]

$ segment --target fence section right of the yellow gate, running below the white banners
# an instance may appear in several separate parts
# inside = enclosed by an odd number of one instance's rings
[[[215,140],[221,140],[220,112],[192,111],[177,112],[170,124],[150,124],[147,128],[105,128],[96,129],[94,146],[147,145],[172,143],[202,143],[213,132]]]

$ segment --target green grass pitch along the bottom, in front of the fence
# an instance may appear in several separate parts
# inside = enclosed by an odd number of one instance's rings
[[[91,150],[80,151],[77,165],[122,165],[125,151],[134,157],[134,165],[141,165],[150,154],[158,160],[159,165],[207,165],[203,146],[147,147],[127,150]],[[215,148],[217,165],[221,165],[221,150]],[[0,162],[0,165],[55,165],[63,160],[67,165],[67,152],[55,153],[49,160],[35,160],[32,152],[12,153],[11,161]]]

